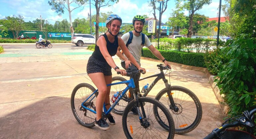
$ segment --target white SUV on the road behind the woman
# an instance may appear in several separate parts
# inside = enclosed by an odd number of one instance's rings
[[[95,44],[95,37],[90,34],[73,34],[71,43],[76,46],[83,46],[83,44]]]

